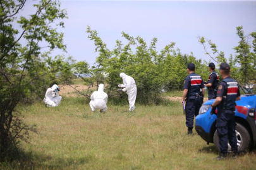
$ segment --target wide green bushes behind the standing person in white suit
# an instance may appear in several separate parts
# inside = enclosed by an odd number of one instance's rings
[[[122,32],[127,44],[116,40],[113,50],[107,48],[106,43],[98,36],[97,31],[87,28],[88,38],[94,41],[95,52],[99,53],[95,65],[88,70],[86,62],[76,64],[76,72],[91,74],[90,82],[106,83],[109,96],[123,98],[125,94],[116,91],[122,80],[120,72],[125,72],[133,77],[137,84],[137,101],[140,103],[159,103],[162,88],[182,89],[187,75],[186,65],[194,62],[197,71],[203,72],[206,77],[205,64],[197,60],[193,54],[181,54],[180,49],[174,50],[175,43],[166,45],[161,52],[157,52],[157,38],[153,38],[150,46],[142,37],[131,37]],[[83,68],[86,68],[83,70]]]

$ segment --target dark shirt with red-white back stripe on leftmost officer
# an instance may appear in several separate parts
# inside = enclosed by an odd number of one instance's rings
[[[188,89],[186,98],[195,98],[195,94],[199,94],[202,88],[204,88],[204,81],[201,76],[195,72],[186,76],[183,86],[183,89]]]

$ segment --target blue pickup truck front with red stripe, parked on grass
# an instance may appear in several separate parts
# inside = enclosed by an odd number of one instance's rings
[[[195,118],[195,130],[207,144],[214,143],[219,150],[219,137],[216,130],[217,115],[210,116],[211,105],[214,99],[206,101],[201,106],[199,115]],[[256,95],[241,96],[240,101],[236,101],[236,137],[238,140],[238,152],[245,152],[252,149],[256,144]],[[217,110],[216,110],[217,114]],[[228,150],[231,147],[228,145]]]

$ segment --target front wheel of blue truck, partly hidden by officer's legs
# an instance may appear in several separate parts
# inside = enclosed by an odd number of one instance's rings
[[[236,139],[238,145],[238,152],[245,152],[250,149],[251,137],[247,128],[243,127],[240,123],[236,123]],[[214,145],[219,150],[219,137],[217,130],[214,133]],[[231,146],[228,144],[228,152],[231,152]]]

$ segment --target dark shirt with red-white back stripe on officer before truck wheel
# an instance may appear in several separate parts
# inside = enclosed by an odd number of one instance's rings
[[[240,96],[238,82],[231,79],[231,77],[226,77],[226,79],[223,79],[223,81],[219,83],[217,97],[218,96],[222,97],[221,103],[219,103],[217,106],[219,111],[223,111],[225,108],[226,110],[233,110],[233,108],[235,108],[236,97]]]

